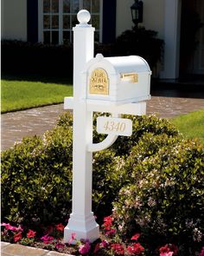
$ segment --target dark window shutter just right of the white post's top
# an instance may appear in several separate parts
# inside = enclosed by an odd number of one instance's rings
[[[103,43],[116,39],[116,0],[103,1]]]

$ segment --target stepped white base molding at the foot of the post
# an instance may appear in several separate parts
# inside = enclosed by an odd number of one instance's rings
[[[90,242],[99,239],[99,224],[97,224],[93,213],[88,216],[77,215],[72,213],[67,226],[64,229],[64,242],[68,243],[75,233],[74,240],[71,241],[72,245],[76,244],[76,240],[88,239]]]

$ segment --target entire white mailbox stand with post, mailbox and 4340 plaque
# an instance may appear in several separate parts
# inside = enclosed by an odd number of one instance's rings
[[[87,10],[77,15],[73,28],[73,97],[66,97],[65,109],[73,109],[73,208],[64,230],[68,242],[99,238],[99,225],[92,213],[92,152],[108,148],[118,135],[130,136],[132,123],[121,114],[144,115],[150,99],[150,67],[139,56],[93,58],[94,28],[88,24]],[[107,134],[104,141],[92,143],[92,113],[100,116],[97,131]],[[74,241],[73,241],[74,243]]]

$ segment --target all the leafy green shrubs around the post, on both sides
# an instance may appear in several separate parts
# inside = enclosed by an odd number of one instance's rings
[[[189,248],[201,246],[203,232],[204,149],[164,119],[125,117],[133,121],[131,138],[119,137],[112,148],[93,154],[93,211],[100,222],[114,202],[124,240],[142,232],[153,249],[179,241],[183,255],[191,255]],[[103,136],[94,132],[94,141]],[[2,153],[3,220],[29,226],[66,220],[71,195],[72,115],[67,112],[43,138],[25,138]]]

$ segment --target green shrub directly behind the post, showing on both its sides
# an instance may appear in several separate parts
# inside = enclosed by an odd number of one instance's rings
[[[23,139],[2,153],[3,220],[30,226],[67,219],[71,213],[72,150],[72,115],[67,112],[42,139]],[[102,213],[112,212],[110,198],[114,199],[122,186],[113,186],[121,180],[115,168],[118,161],[109,150],[95,154],[93,209],[99,221]]]

